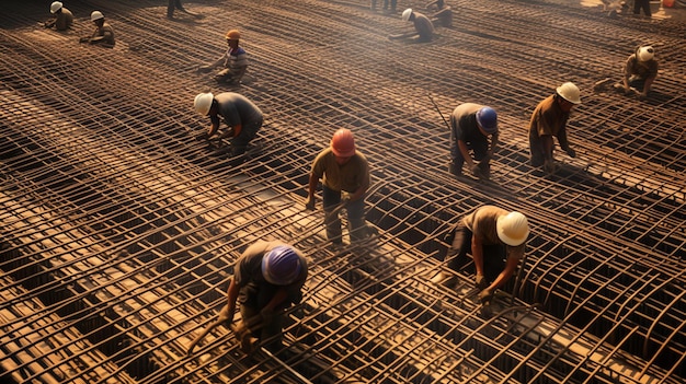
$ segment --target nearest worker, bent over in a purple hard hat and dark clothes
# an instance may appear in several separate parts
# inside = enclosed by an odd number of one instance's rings
[[[238,258],[220,317],[233,322],[240,304],[243,326],[272,350],[282,346],[284,311],[302,300],[307,260],[291,245],[258,241]]]

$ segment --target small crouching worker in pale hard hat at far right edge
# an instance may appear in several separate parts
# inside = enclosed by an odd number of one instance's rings
[[[658,78],[658,67],[655,49],[651,46],[639,46],[627,59],[622,82],[615,84],[615,89],[626,95],[636,94],[639,100],[645,100]]]

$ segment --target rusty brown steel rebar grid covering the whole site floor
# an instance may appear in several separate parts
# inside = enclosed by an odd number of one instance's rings
[[[184,356],[224,304],[232,261],[271,237],[310,260],[277,358],[311,382],[683,381],[684,25],[487,1],[459,4],[455,27],[414,45],[388,42],[408,25],[366,1],[191,3],[196,22],[167,21],[151,1],[90,5],[115,27],[115,49],[75,42],[90,33],[84,5],[70,7],[66,35],[33,27],[42,8],[0,15],[12,27],[0,30],[0,377],[301,382],[242,354],[225,328]],[[251,67],[226,90],[267,117],[239,167],[193,140],[207,121],[191,105],[225,90],[193,70],[230,26]],[[662,68],[651,100],[591,94],[645,42]],[[579,156],[545,176],[527,164],[526,126],[569,80],[584,101],[570,123]],[[467,101],[499,112],[493,184],[446,172],[442,115]],[[302,198],[340,126],[370,161],[380,236],[332,252]],[[492,317],[468,260],[455,290],[428,281],[448,224],[483,203],[521,210],[533,233],[524,280],[505,288],[516,300]]]

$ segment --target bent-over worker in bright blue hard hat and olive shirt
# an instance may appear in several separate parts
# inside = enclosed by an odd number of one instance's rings
[[[453,110],[450,115],[451,161],[448,164],[448,171],[451,174],[462,175],[462,165],[467,162],[475,177],[489,179],[491,177],[490,162],[496,147],[498,114],[493,108],[465,103]],[[473,152],[473,160],[470,151]]]

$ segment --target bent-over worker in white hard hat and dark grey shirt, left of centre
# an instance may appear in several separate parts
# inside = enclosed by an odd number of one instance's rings
[[[255,138],[264,117],[262,110],[245,96],[233,92],[224,92],[217,95],[199,93],[193,102],[195,110],[202,116],[209,116],[210,126],[206,132],[197,137],[198,140],[209,140],[219,130],[219,117],[228,126],[218,139],[231,140],[231,156],[245,153],[245,149]]]

